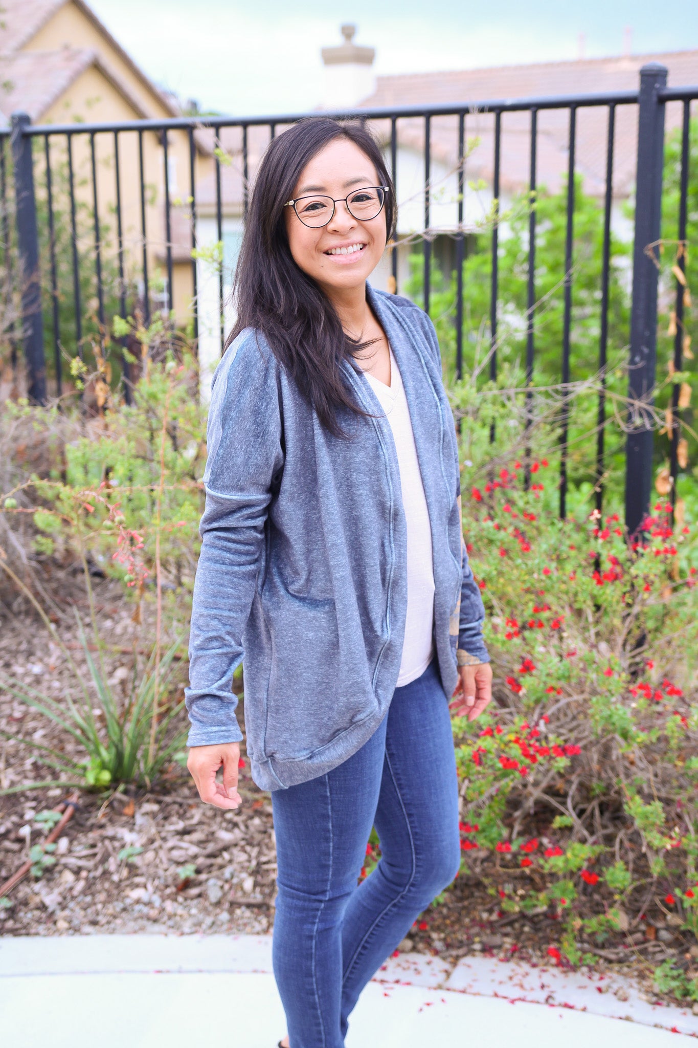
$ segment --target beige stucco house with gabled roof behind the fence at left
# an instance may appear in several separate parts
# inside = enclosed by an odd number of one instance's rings
[[[0,0],[0,125],[14,112],[33,124],[117,123],[181,115],[114,40],[84,0]],[[91,201],[89,136],[77,135],[74,163],[77,192]],[[178,320],[190,312],[193,293],[189,222],[189,141],[170,131],[168,180],[173,202],[171,248],[173,301]],[[142,234],[138,136],[119,134],[119,173],[128,274],[142,290]],[[65,136],[50,139],[51,163],[65,157]],[[113,134],[95,137],[97,191],[104,224],[114,230]],[[142,137],[149,283],[156,305],[165,304],[164,161],[162,136]],[[63,154],[63,157],[62,157]],[[195,184],[211,166],[210,149],[195,139]],[[42,177],[38,163],[39,180]],[[39,187],[38,192],[41,192]],[[91,231],[78,231],[86,240]]]

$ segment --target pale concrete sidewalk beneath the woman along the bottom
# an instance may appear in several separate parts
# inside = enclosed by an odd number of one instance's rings
[[[0,939],[0,1014],[13,1048],[275,1048],[285,1030],[270,936]],[[630,1020],[620,1022],[620,1019]],[[698,1036],[690,1008],[651,1005],[618,977],[494,958],[401,955],[364,991],[347,1048],[533,1048],[564,1038],[661,1048]]]

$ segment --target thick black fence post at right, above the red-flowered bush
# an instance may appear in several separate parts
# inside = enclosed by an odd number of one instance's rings
[[[639,71],[637,171],[635,176],[635,246],[628,396],[630,429],[626,441],[626,525],[634,534],[650,508],[653,428],[641,402],[653,402],[657,358],[657,284],[661,236],[661,176],[665,156],[665,106],[658,92],[667,86],[667,68],[656,62]],[[655,246],[648,252],[650,244]],[[639,403],[638,403],[639,402]]]

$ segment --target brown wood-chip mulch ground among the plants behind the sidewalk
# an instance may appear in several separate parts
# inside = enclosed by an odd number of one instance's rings
[[[132,609],[117,599],[115,584],[96,581],[96,586],[102,628],[113,646],[109,672],[119,681],[128,677],[132,664]],[[60,695],[70,676],[60,650],[47,643],[43,627],[26,614],[13,614],[7,606],[0,611],[0,668],[41,681],[48,694]],[[75,645],[76,635],[68,626],[62,635]],[[59,743],[70,751],[71,743],[60,729],[1,691],[0,728],[44,745]],[[26,747],[0,740],[0,788],[50,777]],[[0,904],[0,931],[10,935],[270,931],[276,875],[271,802],[247,768],[241,771],[240,791],[243,806],[238,811],[203,805],[192,780],[176,764],[151,791],[83,791],[59,840],[55,864],[42,877],[28,875],[10,891],[9,905]],[[66,800],[67,793],[52,787],[0,796],[0,882],[44,837],[35,816]],[[481,873],[483,877],[461,873],[401,948],[446,959],[480,953],[550,963],[548,947],[559,943],[561,934],[555,915],[504,914],[499,896],[492,894],[497,886],[510,896],[516,893],[522,871],[492,859],[485,861]],[[672,926],[671,915],[641,926],[631,924],[603,945],[591,941],[579,945],[595,955],[601,969],[627,966],[644,979],[650,995],[653,970],[667,958],[689,971],[698,966],[695,940]]]

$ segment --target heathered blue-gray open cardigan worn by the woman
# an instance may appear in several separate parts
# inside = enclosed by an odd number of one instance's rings
[[[412,303],[368,288],[400,368],[431,522],[434,642],[448,697],[457,662],[489,661],[463,542],[453,416],[436,334]],[[392,698],[407,607],[406,527],[392,433],[370,384],[346,381],[350,439],[322,429],[264,339],[221,359],[208,415],[206,502],[189,639],[188,745],[237,742],[244,660],[247,752],[266,790],[346,760]]]

